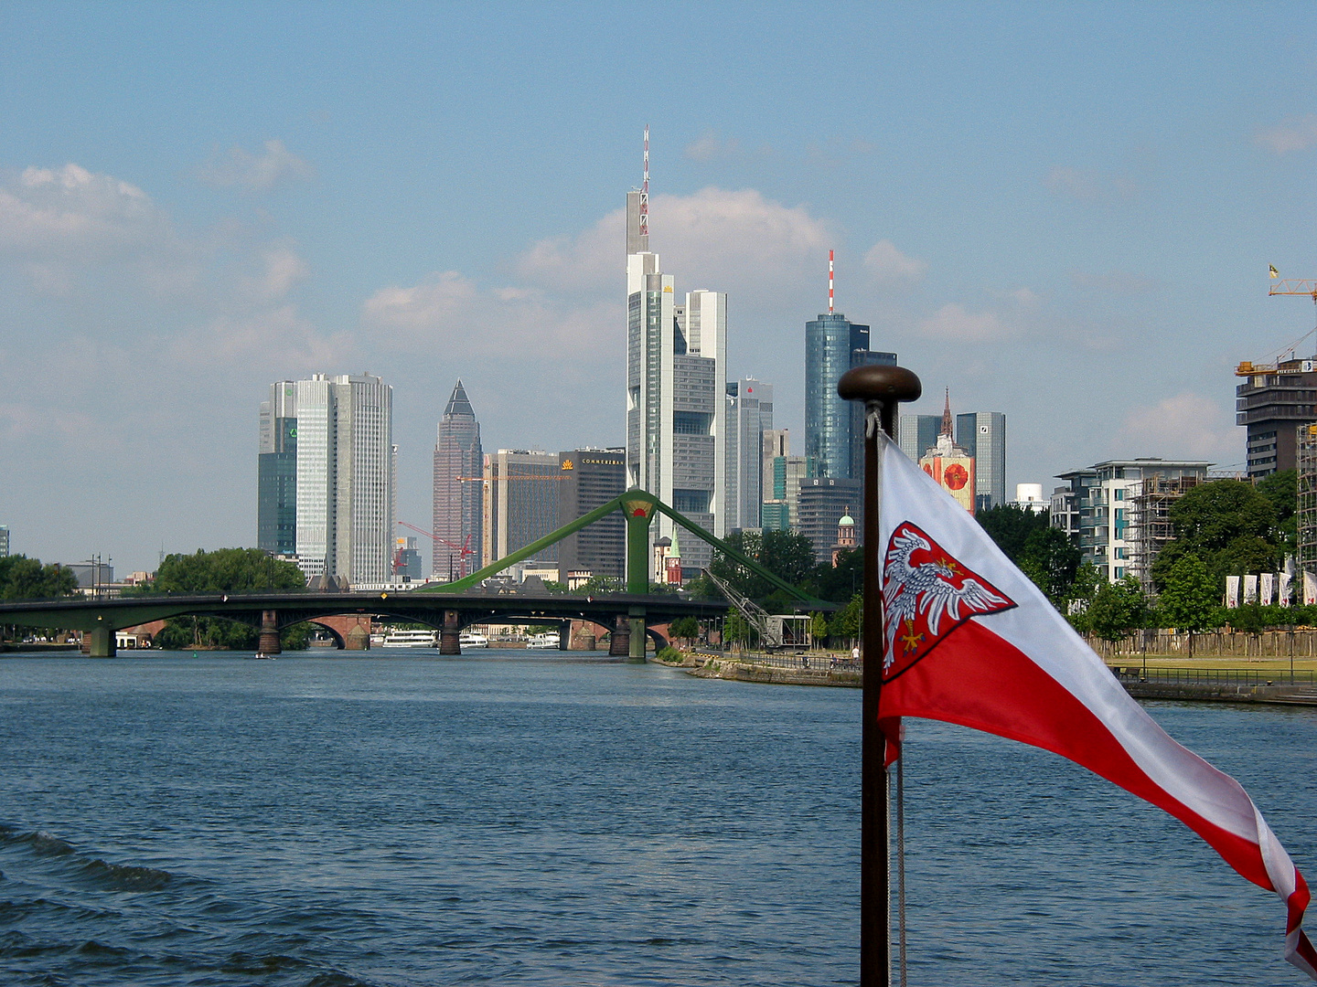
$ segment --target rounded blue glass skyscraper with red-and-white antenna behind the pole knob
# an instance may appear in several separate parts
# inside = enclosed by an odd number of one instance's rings
[[[819,476],[864,476],[864,407],[842,400],[836,382],[852,367],[896,362],[897,354],[869,349],[869,326],[832,311],[830,250],[827,312],[805,324],[805,455],[815,461]]]

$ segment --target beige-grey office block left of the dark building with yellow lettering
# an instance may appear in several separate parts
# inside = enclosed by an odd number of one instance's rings
[[[560,472],[558,457],[539,450],[499,449],[485,455],[483,565],[493,565],[558,528]],[[558,546],[551,545],[527,565],[556,563],[557,558]]]

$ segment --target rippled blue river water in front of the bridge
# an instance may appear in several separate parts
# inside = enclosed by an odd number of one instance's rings
[[[5,658],[0,983],[855,984],[859,700],[556,653]],[[1317,709],[1150,709],[1317,876]],[[1305,982],[1274,895],[1054,755],[910,721],[906,800],[911,984]]]

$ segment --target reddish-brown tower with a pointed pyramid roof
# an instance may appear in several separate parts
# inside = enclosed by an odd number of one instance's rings
[[[458,380],[444,408],[435,442],[435,549],[431,571],[440,579],[479,569],[485,455],[481,425]]]

